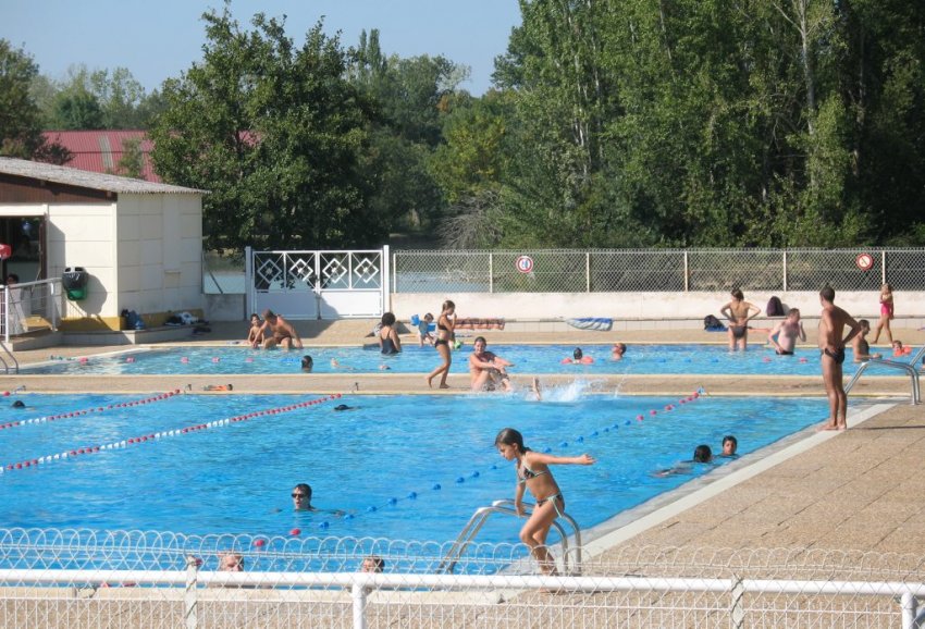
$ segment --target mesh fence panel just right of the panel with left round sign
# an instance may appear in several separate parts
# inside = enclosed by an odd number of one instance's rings
[[[591,254],[591,291],[681,292],[684,252],[679,250],[597,250]]]

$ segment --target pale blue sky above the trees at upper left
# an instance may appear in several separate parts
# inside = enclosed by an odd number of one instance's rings
[[[127,67],[150,92],[178,77],[202,55],[209,9],[221,0],[0,0],[0,38],[33,57],[39,72],[66,77],[71,65],[90,71]],[[507,49],[520,24],[518,0],[232,0],[232,14],[250,28],[255,13],[286,15],[286,34],[297,45],[321,17],[324,32],[341,32],[344,48],[360,32],[379,28],[386,54],[443,54],[468,65],[460,87],[476,96],[491,87],[494,58]]]

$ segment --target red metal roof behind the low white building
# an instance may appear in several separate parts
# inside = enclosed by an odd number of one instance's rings
[[[144,160],[141,178],[162,183],[151,163],[153,143],[144,131],[47,131],[44,135],[48,141],[57,141],[71,151],[73,158],[65,166],[110,174],[122,174],[119,172],[119,161],[124,155],[123,143],[130,138],[139,138]]]

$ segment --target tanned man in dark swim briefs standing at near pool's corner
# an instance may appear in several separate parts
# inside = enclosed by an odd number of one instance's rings
[[[848,428],[848,397],[844,395],[841,363],[844,362],[844,345],[861,332],[861,324],[851,314],[835,305],[835,288],[826,286],[819,291],[823,312],[819,317],[819,360],[823,363],[823,382],[828,395],[829,418],[819,430],[844,430]],[[844,328],[848,336],[843,336]]]

